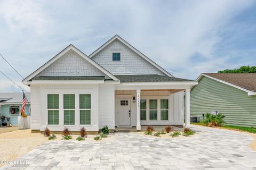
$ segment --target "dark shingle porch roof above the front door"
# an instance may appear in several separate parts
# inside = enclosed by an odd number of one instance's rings
[[[139,74],[139,75],[115,75],[121,82],[170,82],[170,81],[193,81],[187,79],[167,77],[157,74]]]

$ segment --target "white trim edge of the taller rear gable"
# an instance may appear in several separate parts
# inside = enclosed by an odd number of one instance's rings
[[[95,50],[92,54],[89,55],[90,58],[92,58],[95,54],[99,53],[100,50],[102,50],[103,48],[105,48],[106,46],[108,46],[110,43],[112,43],[114,40],[118,39],[119,41],[121,41],[124,45],[126,45],[127,47],[129,47],[131,50],[133,50],[136,54],[138,54],[139,56],[141,56],[142,58],[144,58],[147,62],[149,62],[150,64],[152,64],[153,66],[155,66],[158,70],[160,70],[161,72],[163,72],[164,74],[166,74],[169,77],[173,77],[172,74],[170,74],[169,72],[167,72],[166,70],[164,70],[161,66],[159,66],[158,64],[156,64],[155,62],[153,62],[152,60],[150,60],[150,58],[148,58],[146,55],[142,54],[141,52],[139,52],[138,49],[136,49],[135,47],[133,47],[132,45],[130,45],[129,43],[127,43],[123,38],[121,38],[118,35],[115,35],[114,37],[112,37],[111,39],[109,39],[105,44],[103,44],[101,47],[99,47],[97,50]]]

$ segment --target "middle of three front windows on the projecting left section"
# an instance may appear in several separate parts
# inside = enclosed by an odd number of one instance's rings
[[[75,124],[75,95],[63,95],[64,124]]]

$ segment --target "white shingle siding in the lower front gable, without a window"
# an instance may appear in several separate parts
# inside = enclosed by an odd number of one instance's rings
[[[69,50],[59,60],[47,67],[38,76],[102,76],[97,67],[87,62],[82,56],[78,55],[74,50]]]

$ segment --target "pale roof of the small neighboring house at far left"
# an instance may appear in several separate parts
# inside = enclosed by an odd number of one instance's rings
[[[30,94],[25,93],[30,102]],[[0,104],[22,104],[23,92],[0,92]]]

